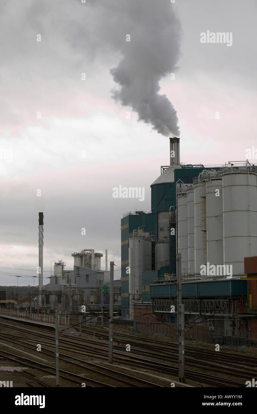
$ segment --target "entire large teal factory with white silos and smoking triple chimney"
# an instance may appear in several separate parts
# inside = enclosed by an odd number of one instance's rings
[[[197,319],[227,335],[257,335],[256,281],[245,270],[245,258],[257,254],[257,167],[248,161],[182,165],[178,138],[170,139],[170,150],[170,166],[151,185],[151,212],[121,219],[122,315],[142,320],[150,312],[176,323],[169,309],[181,253],[186,323]]]

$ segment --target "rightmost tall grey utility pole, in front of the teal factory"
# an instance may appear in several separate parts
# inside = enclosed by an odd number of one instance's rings
[[[185,315],[182,303],[182,280],[181,280],[181,253],[176,255],[177,261],[177,315],[178,315],[178,380],[185,382]]]

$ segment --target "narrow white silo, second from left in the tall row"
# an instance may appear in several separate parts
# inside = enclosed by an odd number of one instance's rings
[[[188,272],[195,272],[195,209],[194,190],[188,191]]]

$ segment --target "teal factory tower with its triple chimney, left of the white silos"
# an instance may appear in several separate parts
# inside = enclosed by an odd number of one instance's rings
[[[161,175],[151,184],[151,212],[127,212],[121,219],[121,308],[122,316],[126,318],[129,318],[131,303],[129,296],[129,272],[131,272],[129,248],[130,240],[135,238],[136,232],[146,233],[147,237],[148,235],[151,237],[152,259],[148,260],[148,270],[168,267],[168,274],[176,273],[176,184],[193,183],[193,178],[198,177],[206,169],[202,164],[181,164],[179,140],[176,137],[170,138],[170,165],[161,166]],[[174,229],[173,236],[171,228]],[[133,277],[134,275],[131,276],[131,279]],[[135,274],[135,277],[138,277],[138,274]],[[156,278],[156,274],[152,277]],[[147,283],[149,283],[149,277]],[[144,285],[143,282],[143,286],[148,285]],[[136,292],[133,292],[133,295],[136,297]]]

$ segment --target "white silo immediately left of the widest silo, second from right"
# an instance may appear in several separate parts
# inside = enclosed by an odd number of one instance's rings
[[[222,178],[206,181],[207,262],[223,264]]]

